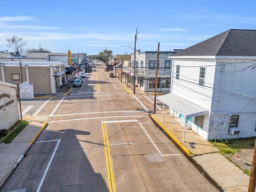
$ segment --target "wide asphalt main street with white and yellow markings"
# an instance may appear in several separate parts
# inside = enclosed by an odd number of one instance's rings
[[[81,88],[33,110],[48,126],[2,192],[218,191],[154,126],[152,96],[92,67]]]

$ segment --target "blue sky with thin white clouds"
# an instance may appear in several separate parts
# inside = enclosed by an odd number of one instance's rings
[[[26,40],[26,49],[113,54],[136,49],[185,49],[229,29],[256,30],[255,0],[44,0],[2,1],[0,51],[7,38]]]

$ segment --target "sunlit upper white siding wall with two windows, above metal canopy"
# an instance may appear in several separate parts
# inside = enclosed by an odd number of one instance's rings
[[[211,61],[173,61],[173,77],[171,92],[210,110],[212,87],[214,82],[215,62]],[[180,78],[176,79],[176,66],[180,65]],[[205,86],[198,85],[200,66],[206,67]],[[206,87],[208,86],[208,87]]]

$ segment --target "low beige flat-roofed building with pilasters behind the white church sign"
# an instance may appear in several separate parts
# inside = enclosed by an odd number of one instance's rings
[[[34,94],[55,94],[67,81],[67,70],[63,62],[26,62],[22,66],[18,62],[12,62],[2,64],[0,69],[1,81],[16,85],[30,82],[34,87]]]

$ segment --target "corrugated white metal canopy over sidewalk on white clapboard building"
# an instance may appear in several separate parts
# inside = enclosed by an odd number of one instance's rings
[[[186,118],[208,114],[208,110],[173,93],[158,96],[157,99]]]

